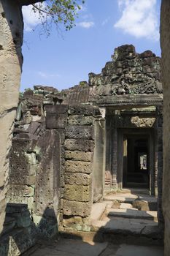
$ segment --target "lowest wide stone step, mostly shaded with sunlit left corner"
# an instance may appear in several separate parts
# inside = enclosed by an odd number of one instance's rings
[[[163,234],[158,223],[148,219],[105,217],[93,222],[91,231],[102,234],[104,241],[119,244],[163,244]]]

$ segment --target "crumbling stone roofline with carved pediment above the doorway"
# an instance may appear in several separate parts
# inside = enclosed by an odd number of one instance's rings
[[[122,45],[115,48],[112,61],[100,74],[89,74],[88,82],[61,92],[53,87],[34,86],[34,94],[43,94],[48,102],[69,105],[123,95],[162,94],[161,58],[150,50],[136,53],[134,45]]]

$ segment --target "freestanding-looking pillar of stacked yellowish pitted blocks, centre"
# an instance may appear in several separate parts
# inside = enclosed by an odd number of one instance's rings
[[[88,231],[93,203],[93,106],[69,105],[66,125],[63,227]]]

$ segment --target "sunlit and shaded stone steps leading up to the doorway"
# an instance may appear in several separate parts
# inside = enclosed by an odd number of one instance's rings
[[[146,189],[134,189],[132,192],[123,189],[119,193],[109,193],[104,196],[103,202],[93,205],[91,231],[107,237],[111,233],[115,238],[119,235],[120,244],[128,243],[121,234],[131,236],[132,241],[138,239],[136,244],[147,237],[152,244],[152,239],[159,239],[160,233],[156,210],[157,198],[148,195]]]

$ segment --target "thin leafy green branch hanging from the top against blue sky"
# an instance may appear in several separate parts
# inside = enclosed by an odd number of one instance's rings
[[[33,5],[34,12],[39,13],[39,19],[47,35],[50,34],[53,23],[59,29],[62,24],[66,31],[75,26],[75,18],[81,10],[84,0],[46,0]]]

